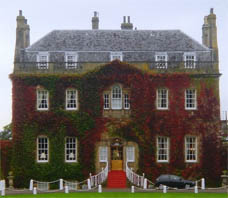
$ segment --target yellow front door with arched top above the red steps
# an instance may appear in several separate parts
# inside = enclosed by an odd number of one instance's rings
[[[123,170],[123,145],[118,138],[111,144],[111,161],[112,170]]]

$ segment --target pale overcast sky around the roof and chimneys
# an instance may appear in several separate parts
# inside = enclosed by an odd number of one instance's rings
[[[202,24],[210,8],[217,15],[221,111],[228,110],[228,0],[5,0],[0,4],[0,130],[12,118],[12,85],[16,16],[28,19],[31,44],[55,29],[91,29],[99,12],[100,29],[120,29],[131,16],[138,30],[180,29],[201,43]]]

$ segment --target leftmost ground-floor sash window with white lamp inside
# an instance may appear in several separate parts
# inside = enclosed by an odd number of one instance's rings
[[[37,162],[48,162],[49,145],[47,137],[37,138]]]

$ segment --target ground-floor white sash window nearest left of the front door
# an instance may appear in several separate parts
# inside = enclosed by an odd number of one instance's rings
[[[77,139],[67,137],[65,142],[65,161],[77,162]]]

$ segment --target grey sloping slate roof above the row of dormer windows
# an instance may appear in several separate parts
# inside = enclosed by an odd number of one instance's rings
[[[209,51],[180,30],[54,30],[27,51]]]

